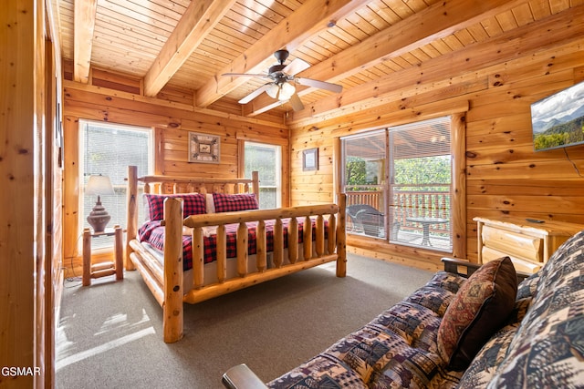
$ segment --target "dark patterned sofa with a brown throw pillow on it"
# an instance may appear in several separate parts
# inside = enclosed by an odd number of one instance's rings
[[[469,272],[468,278],[437,272],[357,332],[268,384],[241,364],[224,374],[224,385],[584,388],[584,231],[518,285],[508,259]]]

